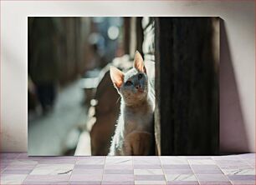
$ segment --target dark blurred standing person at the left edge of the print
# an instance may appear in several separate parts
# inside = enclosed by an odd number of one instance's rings
[[[52,18],[29,19],[28,72],[44,113],[54,105],[58,79],[56,29]]]

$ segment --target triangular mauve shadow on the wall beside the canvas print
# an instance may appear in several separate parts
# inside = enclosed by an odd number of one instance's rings
[[[248,138],[228,36],[223,19],[220,21],[220,152],[247,153]]]

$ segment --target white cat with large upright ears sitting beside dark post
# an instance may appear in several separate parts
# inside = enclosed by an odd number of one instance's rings
[[[136,51],[128,72],[111,66],[110,77],[121,100],[109,155],[149,155],[154,136],[155,97],[151,96],[151,83],[141,53]]]

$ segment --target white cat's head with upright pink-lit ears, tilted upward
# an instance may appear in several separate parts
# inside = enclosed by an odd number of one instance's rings
[[[126,104],[134,105],[147,97],[148,77],[140,52],[136,51],[131,70],[123,73],[116,67],[110,67],[110,77]]]

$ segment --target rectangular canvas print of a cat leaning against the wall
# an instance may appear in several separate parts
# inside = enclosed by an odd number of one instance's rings
[[[215,155],[219,18],[28,17],[28,155]]]

